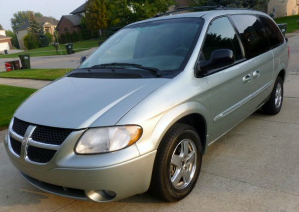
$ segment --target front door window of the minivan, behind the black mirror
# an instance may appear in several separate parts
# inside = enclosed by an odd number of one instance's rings
[[[209,60],[211,53],[219,49],[232,50],[236,60],[243,58],[237,35],[227,17],[218,18],[211,23],[203,43],[200,60]]]

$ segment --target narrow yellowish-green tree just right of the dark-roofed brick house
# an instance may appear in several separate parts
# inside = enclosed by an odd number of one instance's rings
[[[93,32],[103,30],[108,27],[108,17],[106,9],[106,0],[89,0],[86,5],[86,24]]]

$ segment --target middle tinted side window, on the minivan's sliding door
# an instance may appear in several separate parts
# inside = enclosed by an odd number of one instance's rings
[[[254,15],[232,15],[231,17],[240,33],[246,58],[270,50],[266,30]]]

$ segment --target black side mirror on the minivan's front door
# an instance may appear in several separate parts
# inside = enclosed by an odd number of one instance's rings
[[[196,76],[200,76],[203,73],[231,65],[235,62],[234,53],[229,49],[219,49],[215,50],[211,54],[210,60],[199,61],[196,68]]]

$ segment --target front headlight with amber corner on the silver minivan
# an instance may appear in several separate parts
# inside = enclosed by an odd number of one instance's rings
[[[136,125],[91,128],[79,139],[77,154],[108,153],[126,148],[142,135],[142,128]]]

